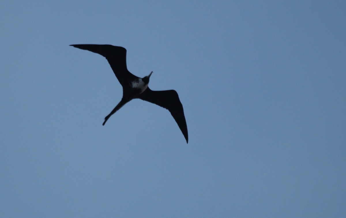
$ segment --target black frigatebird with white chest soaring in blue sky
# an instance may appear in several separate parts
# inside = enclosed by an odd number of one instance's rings
[[[106,57],[115,76],[122,85],[122,99],[117,106],[104,118],[103,126],[110,116],[117,112],[122,106],[132,99],[139,98],[144,101],[154,103],[169,110],[183,133],[186,143],[189,141],[188,127],[184,115],[183,105],[180,102],[178,93],[175,90],[152,91],[148,87],[149,78],[153,71],[144,78],[139,78],[127,70],[126,49],[113,45],[70,45],[75,48],[88,50]]]

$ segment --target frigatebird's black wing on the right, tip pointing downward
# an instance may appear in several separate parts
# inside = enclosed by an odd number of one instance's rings
[[[180,102],[178,93],[174,90],[152,91],[149,87],[137,98],[154,103],[169,110],[183,133],[186,143],[189,141],[188,127],[184,115],[183,105]]]

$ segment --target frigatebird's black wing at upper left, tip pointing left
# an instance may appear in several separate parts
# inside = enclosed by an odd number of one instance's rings
[[[119,80],[120,84],[129,85],[130,81],[138,79],[137,76],[133,75],[127,70],[126,65],[126,49],[119,46],[113,45],[71,45],[75,48],[88,50],[106,57],[108,63],[112,67],[112,70]]]

